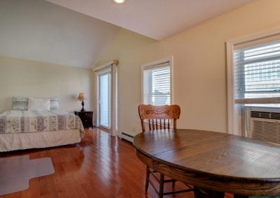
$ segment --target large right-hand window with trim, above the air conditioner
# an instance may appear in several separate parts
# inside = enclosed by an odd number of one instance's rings
[[[244,110],[280,107],[280,29],[229,40],[227,73],[228,132],[241,135]]]

